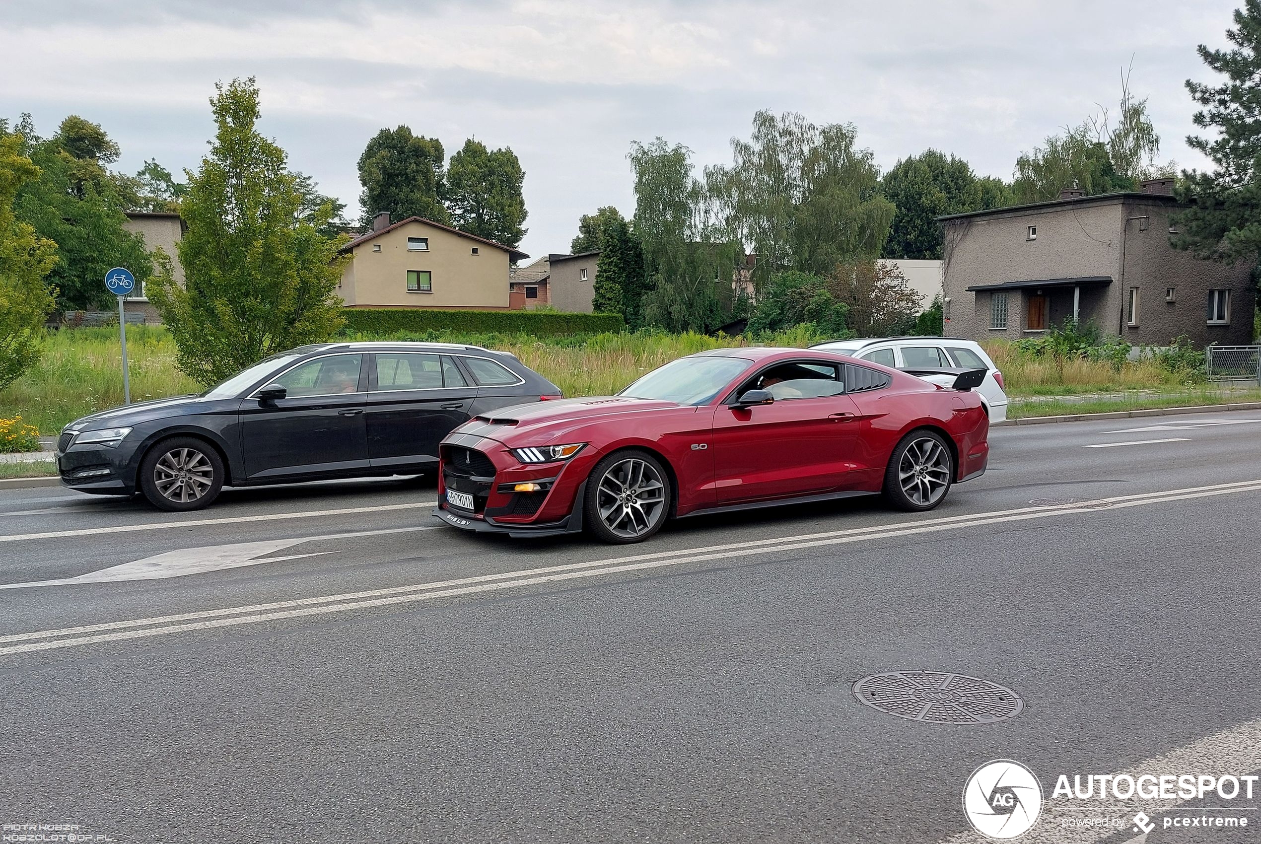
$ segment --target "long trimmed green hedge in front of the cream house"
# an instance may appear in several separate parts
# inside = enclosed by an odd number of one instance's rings
[[[550,310],[427,310],[420,308],[346,308],[346,329],[368,334],[451,332],[469,334],[603,334],[625,328],[622,314],[571,314]]]

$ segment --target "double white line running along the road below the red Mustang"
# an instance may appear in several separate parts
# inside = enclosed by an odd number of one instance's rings
[[[1136,496],[1117,496],[1113,498],[1098,498],[1095,501],[1076,502],[1069,505],[1020,507],[1018,510],[970,513],[966,516],[946,516],[942,519],[928,519],[897,525],[854,527],[850,530],[826,531],[796,537],[774,537],[748,542],[731,542],[728,545],[680,549],[675,551],[656,551],[603,560],[589,560],[585,563],[569,563],[565,565],[552,565],[538,569],[504,571],[502,574],[484,574],[473,578],[459,578],[455,580],[417,583],[414,585],[393,587],[390,589],[352,592],[339,595],[325,595],[322,598],[279,601],[275,603],[230,607],[227,609],[207,609],[202,612],[182,613],[178,616],[158,616],[153,618],[136,618],[131,621],[116,621],[102,624],[86,624],[83,627],[67,627],[63,630],[15,633],[10,636],[0,636],[0,656],[25,654],[30,651],[49,651],[62,647],[77,647],[82,645],[96,645],[101,642],[113,642],[131,638],[148,638],[151,636],[165,636],[168,633],[180,633],[194,630],[213,630],[217,627],[256,624],[269,621],[282,621],[286,618],[323,616],[328,613],[349,612],[353,609],[387,607],[391,604],[419,603],[421,601],[435,601],[438,598],[453,598],[484,592],[498,592],[516,587],[556,583],[576,578],[591,578],[607,574],[620,574],[625,571],[642,571],[646,569],[682,565],[685,563],[700,563],[704,560],[792,551],[805,548],[818,548],[822,545],[865,542],[869,540],[909,536],[914,534],[929,534],[962,527],[1026,521],[1031,519],[1048,519],[1068,513],[1095,513],[1106,510],[1164,503],[1168,501],[1183,501],[1187,498],[1203,498],[1207,496],[1256,491],[1261,491],[1261,479],[1221,483],[1208,487],[1170,489],[1165,492],[1149,492]]]

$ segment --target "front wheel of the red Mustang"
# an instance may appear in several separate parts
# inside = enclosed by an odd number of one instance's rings
[[[583,524],[605,542],[642,542],[670,515],[670,476],[652,454],[614,452],[586,482]]]

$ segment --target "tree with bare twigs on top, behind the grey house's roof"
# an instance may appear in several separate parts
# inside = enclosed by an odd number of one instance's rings
[[[1121,76],[1120,117],[1113,129],[1107,108],[1087,117],[1062,135],[1050,135],[1043,146],[1016,159],[1013,192],[1019,203],[1057,199],[1064,188],[1086,196],[1135,190],[1139,182],[1173,173],[1173,164],[1158,164],[1160,135],[1148,115],[1148,100],[1130,92],[1130,73]]]

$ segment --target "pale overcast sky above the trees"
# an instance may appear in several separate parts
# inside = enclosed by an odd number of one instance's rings
[[[1150,97],[1163,158],[1187,148],[1235,0],[62,0],[5,3],[0,116],[48,135],[102,124],[119,167],[195,168],[217,79],[256,76],[262,131],[356,212],[356,161],[382,126],[508,145],[526,170],[532,255],[579,214],[633,211],[625,153],[661,135],[730,160],[757,108],[852,122],[881,168],[936,148],[1010,178],[1020,150]]]

